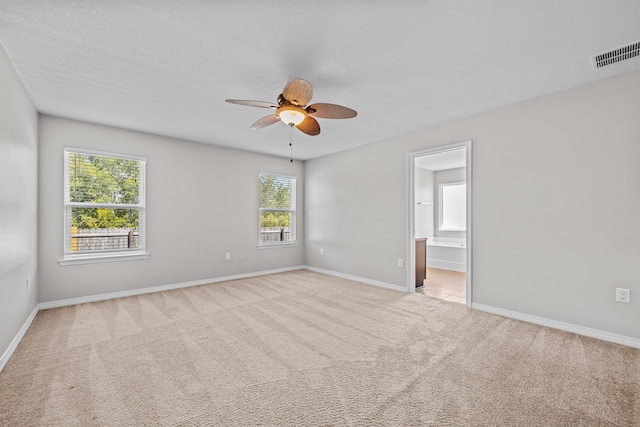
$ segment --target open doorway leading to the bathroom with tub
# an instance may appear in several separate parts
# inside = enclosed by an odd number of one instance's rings
[[[407,292],[419,288],[426,295],[468,307],[472,301],[471,159],[471,141],[407,154]],[[424,281],[422,268],[426,269]]]

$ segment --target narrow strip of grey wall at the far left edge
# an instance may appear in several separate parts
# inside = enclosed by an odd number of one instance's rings
[[[0,45],[0,356],[38,303],[37,138],[38,114]]]

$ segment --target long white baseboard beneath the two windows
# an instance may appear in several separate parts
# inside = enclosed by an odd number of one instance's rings
[[[46,310],[48,308],[65,307],[68,305],[84,304],[87,302],[105,301],[114,298],[131,297],[135,295],[150,294],[153,292],[171,291],[174,289],[188,288],[191,286],[207,285],[210,283],[227,282],[229,280],[246,279],[248,277],[266,276],[267,274],[284,273],[286,271],[302,270],[305,267],[297,265],[294,267],[276,268],[273,270],[256,271],[252,273],[234,274],[231,276],[215,277],[212,279],[194,280],[191,282],[173,283],[169,285],[152,286],[149,288],[131,289],[128,291],[109,292],[107,294],[88,295],[86,297],[69,298],[64,300],[49,301],[40,303],[39,309]]]

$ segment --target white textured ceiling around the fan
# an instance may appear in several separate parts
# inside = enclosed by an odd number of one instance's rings
[[[358,116],[294,130],[299,160],[638,70],[591,66],[637,40],[638,0],[0,0],[41,113],[286,157],[285,124],[249,129],[271,110],[224,101],[304,78]]]

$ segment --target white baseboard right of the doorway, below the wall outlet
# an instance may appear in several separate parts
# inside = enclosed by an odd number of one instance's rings
[[[628,347],[640,348],[640,339],[628,337],[626,335],[614,334],[613,332],[587,328],[586,326],[560,322],[558,320],[547,319],[546,317],[534,316],[531,314],[520,313],[518,311],[511,311],[504,308],[493,307],[490,305],[471,303],[471,308],[480,311],[486,311],[487,313],[498,314],[500,316],[509,317],[512,319],[523,320],[525,322],[534,323],[536,325],[560,329],[561,331],[565,332],[573,332],[574,334],[584,335],[586,337],[597,338],[599,340],[609,341],[616,344],[622,344]]]

